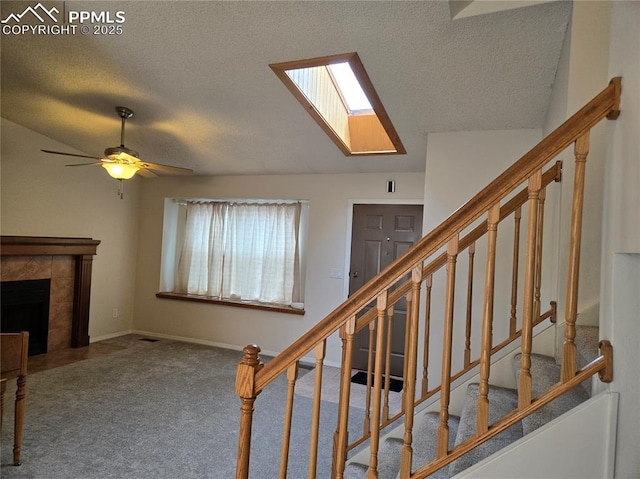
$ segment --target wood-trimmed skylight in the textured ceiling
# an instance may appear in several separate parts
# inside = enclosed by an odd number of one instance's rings
[[[357,53],[269,66],[345,155],[406,153]]]

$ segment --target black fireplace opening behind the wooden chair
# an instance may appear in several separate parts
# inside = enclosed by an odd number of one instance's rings
[[[3,281],[0,331],[29,331],[29,356],[47,352],[50,279]]]

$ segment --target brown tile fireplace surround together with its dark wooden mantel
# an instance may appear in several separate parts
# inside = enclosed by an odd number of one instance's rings
[[[0,281],[51,279],[47,351],[89,344],[91,266],[99,240],[0,236]]]

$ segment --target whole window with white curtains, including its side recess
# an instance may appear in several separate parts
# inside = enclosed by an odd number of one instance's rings
[[[306,206],[267,200],[166,202],[160,290],[302,309]]]

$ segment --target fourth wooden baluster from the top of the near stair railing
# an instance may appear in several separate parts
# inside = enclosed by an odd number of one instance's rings
[[[451,349],[453,343],[453,301],[456,284],[456,259],[458,235],[447,245],[447,290],[444,309],[444,344],[442,346],[442,381],[440,389],[440,423],[436,457],[447,455],[449,450],[449,398],[451,394]]]

